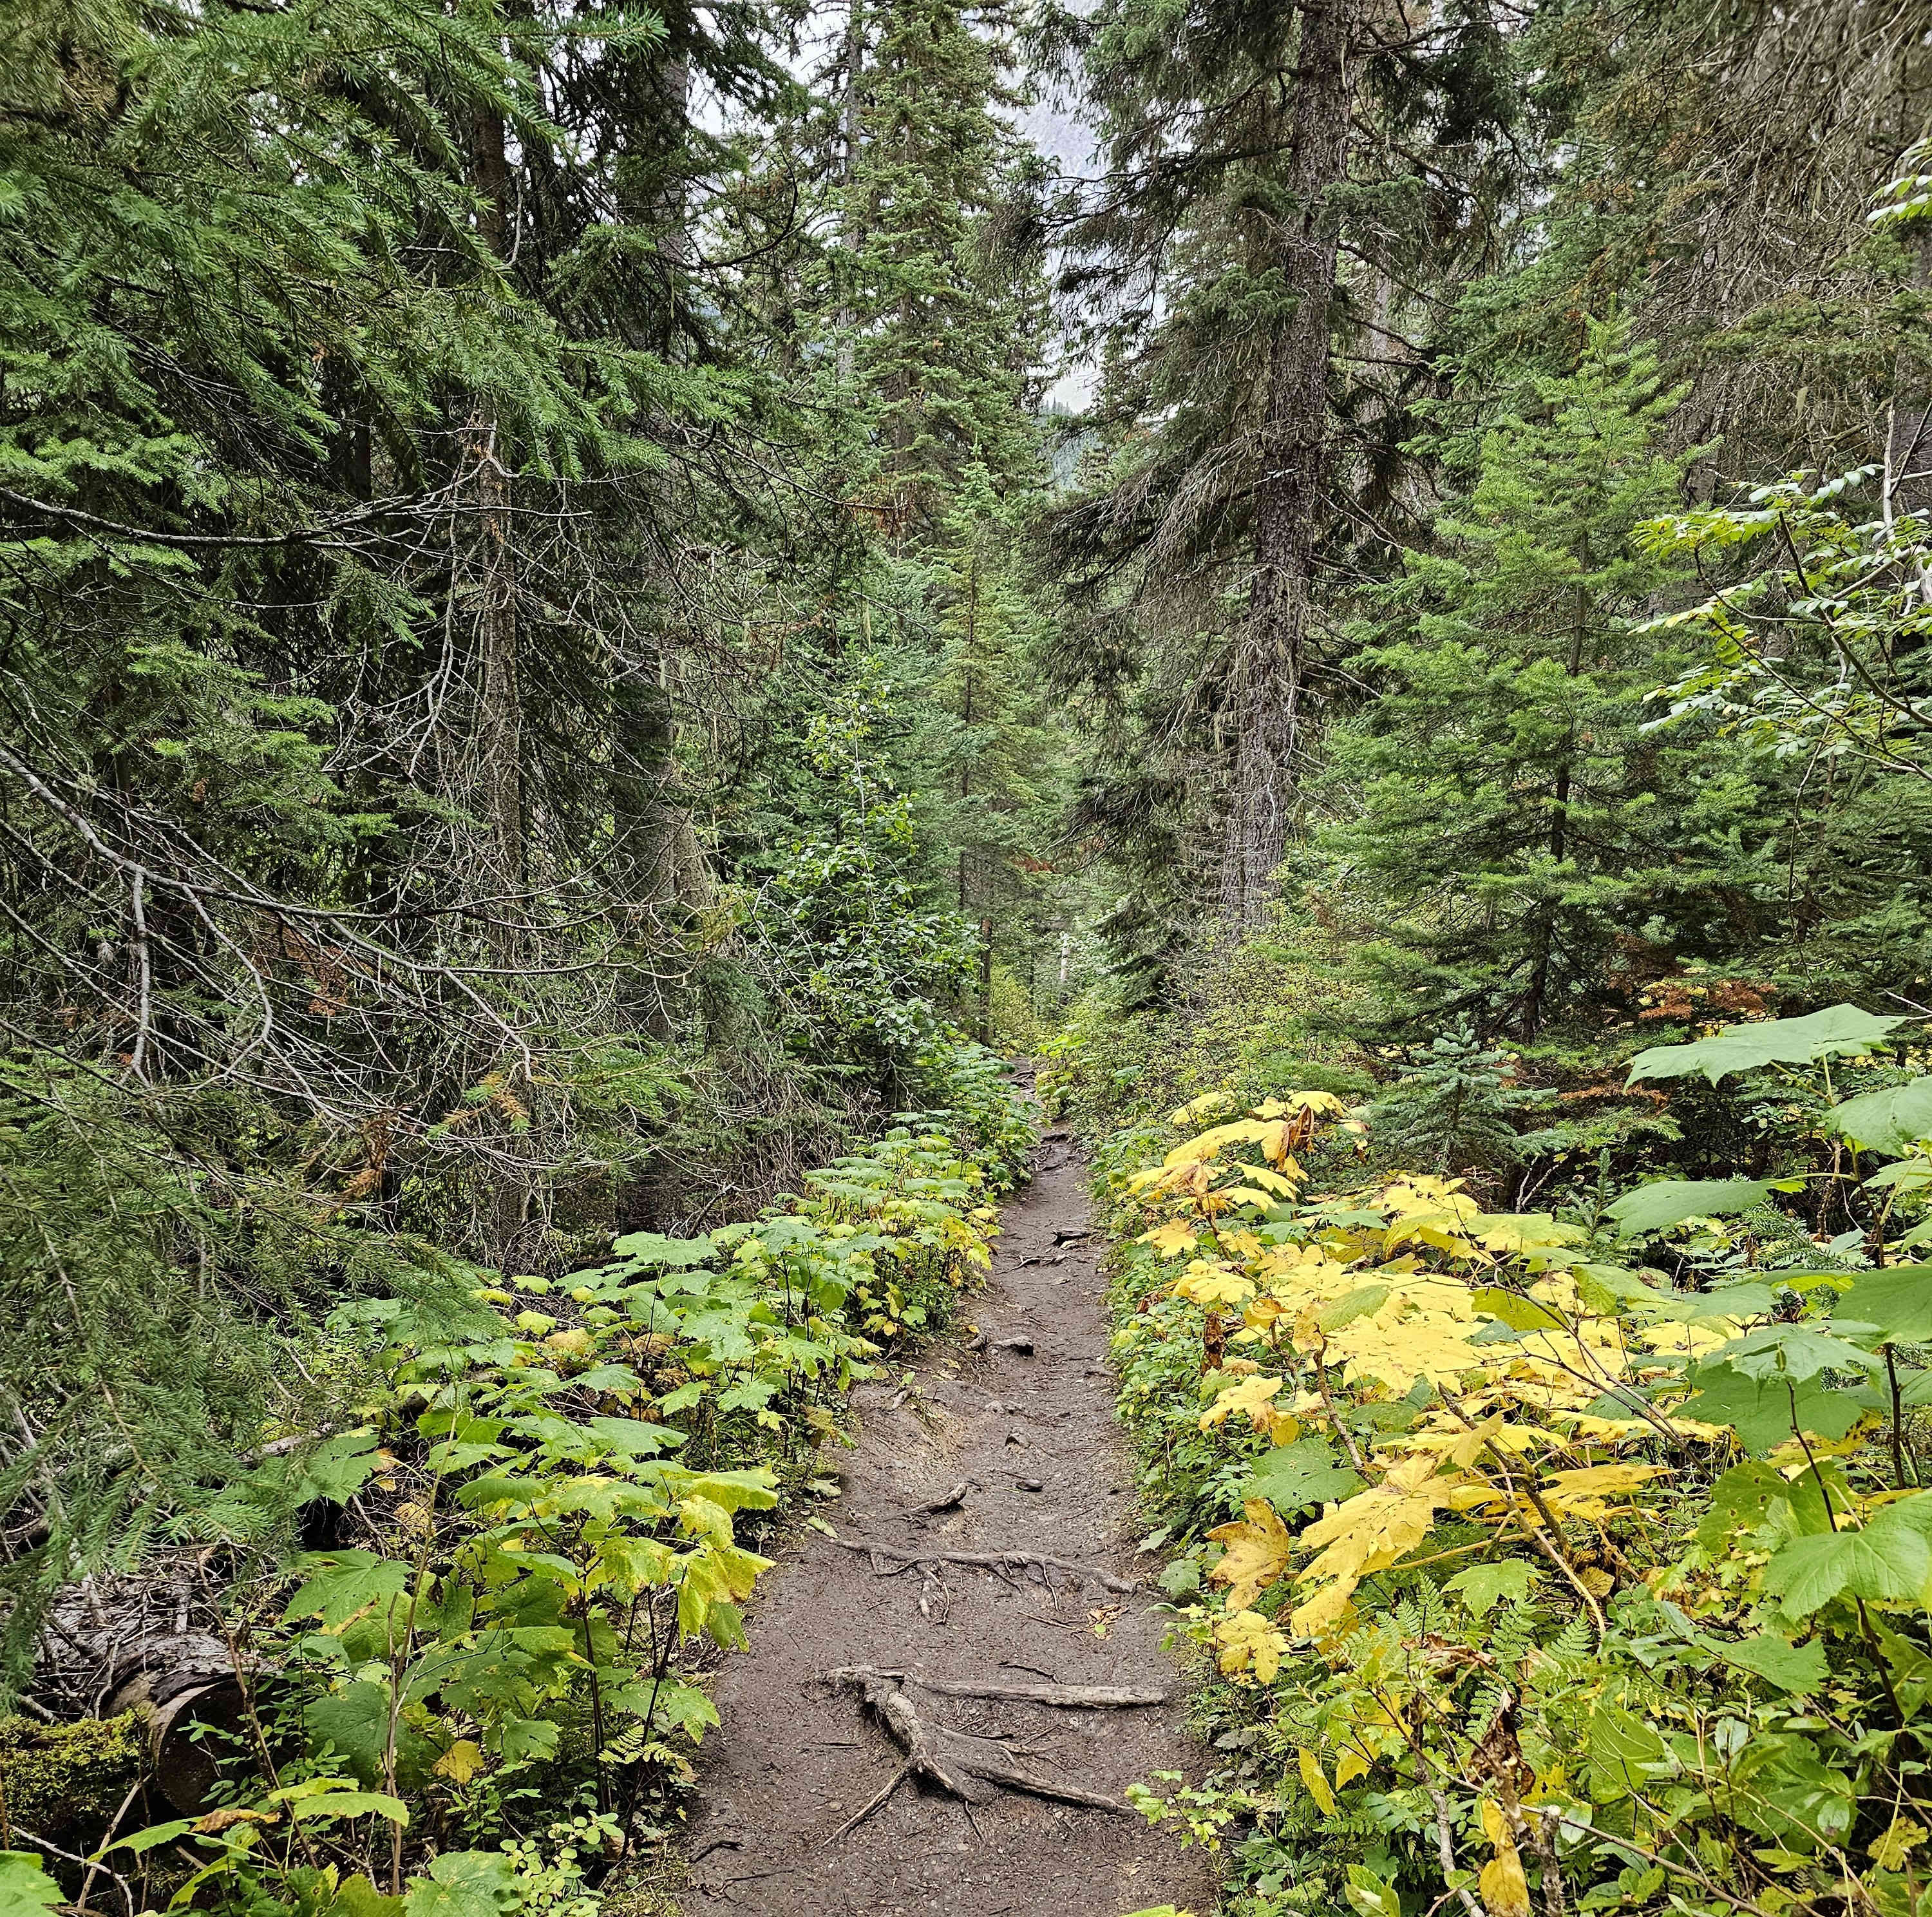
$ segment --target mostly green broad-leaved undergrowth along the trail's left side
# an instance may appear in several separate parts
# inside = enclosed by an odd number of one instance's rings
[[[129,1909],[587,1913],[612,1869],[665,1865],[717,1726],[705,1646],[744,1646],[771,1567],[752,1546],[831,1486],[848,1386],[947,1322],[1024,1175],[999,1061],[962,1049],[947,1086],[744,1223],[344,1304],[334,1415],[56,1610],[81,1689],[156,1598],[222,1677],[199,1726],[143,1689],[147,1764],[126,1701],[106,1739],[0,1720],[8,1824],[58,1871],[10,1851],[8,1907],[100,1878]],[[104,1828],[102,1768],[129,1782]]]

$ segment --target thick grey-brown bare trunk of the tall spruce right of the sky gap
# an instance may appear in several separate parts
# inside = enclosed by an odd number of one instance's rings
[[[1294,68],[1283,276],[1294,298],[1267,356],[1254,587],[1229,688],[1235,773],[1221,846],[1221,922],[1238,937],[1267,908],[1289,841],[1302,669],[1314,611],[1314,549],[1327,483],[1329,191],[1349,162],[1347,0],[1304,4]]]

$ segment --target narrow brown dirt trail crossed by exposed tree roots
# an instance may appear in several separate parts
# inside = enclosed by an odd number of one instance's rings
[[[912,1393],[898,1374],[858,1397],[864,1436],[844,1496],[819,1505],[840,1538],[920,1552],[1030,1552],[1105,1571],[1076,1581],[867,1558],[800,1531],[730,1658],[724,1726],[705,1745],[690,1838],[690,1917],[1121,1917],[1150,1905],[1213,1909],[1211,1871],[1138,1817],[978,1786],[970,1811],[912,1780],[846,1824],[904,1755],[842,1666],[954,1683],[1119,1685],[1179,1695],[1150,1616],[1159,1592],[1132,1552],[1130,1469],[1113,1422],[1097,1241],[1084,1177],[1049,1136],[1034,1183],[1007,1208],[993,1277],[966,1316],[987,1337],[931,1345]],[[1018,1339],[1032,1345],[1005,1347]],[[966,1484],[960,1505],[920,1513]],[[1047,1588],[1051,1577],[1057,1588]],[[923,1612],[922,1612],[923,1600]],[[1095,1627],[1105,1629],[1105,1637]],[[896,1685],[875,1683],[891,1697]],[[1196,1768],[1179,1704],[1053,1708],[906,1687],[929,1730],[1003,1739],[1032,1774],[1119,1797],[1155,1770]],[[904,1722],[904,1720],[902,1720]],[[993,1745],[945,1741],[954,1757]]]

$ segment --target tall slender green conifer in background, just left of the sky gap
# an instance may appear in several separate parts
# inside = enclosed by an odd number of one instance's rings
[[[922,794],[908,870],[923,906],[980,935],[980,982],[958,1001],[980,1022],[1010,846],[1043,839],[1016,696],[1034,616],[1014,522],[1041,470],[1045,311],[1037,261],[1005,243],[1032,160],[1007,120],[997,10],[854,0],[844,27],[782,162],[821,243],[761,265],[752,296],[804,342],[786,359],[852,531],[794,659],[817,674],[815,701],[867,703],[881,765]],[[784,765],[769,775],[800,827],[840,829]]]

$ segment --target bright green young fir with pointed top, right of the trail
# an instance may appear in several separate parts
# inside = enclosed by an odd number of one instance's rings
[[[1648,730],[1681,661],[1644,615],[1673,574],[1631,535],[1696,458],[1662,444],[1677,398],[1650,346],[1594,325],[1482,435],[1439,547],[1387,589],[1325,848],[1401,914],[1378,957],[1408,1015],[1534,1034],[1602,991],[1617,941],[1721,949],[1776,879],[1752,781]]]

